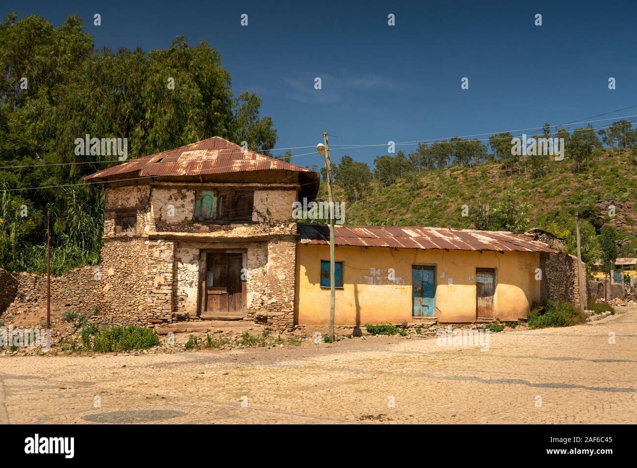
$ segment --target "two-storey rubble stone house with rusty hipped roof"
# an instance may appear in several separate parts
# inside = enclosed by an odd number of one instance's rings
[[[105,181],[100,311],[128,322],[294,323],[296,221],[318,174],[214,137],[87,176]]]

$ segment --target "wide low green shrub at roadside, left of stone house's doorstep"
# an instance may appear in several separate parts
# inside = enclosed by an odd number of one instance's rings
[[[89,328],[92,327],[92,328]],[[90,346],[90,336],[93,336],[93,343]],[[137,325],[127,327],[102,327],[97,328],[88,325],[82,330],[82,341],[87,350],[101,353],[111,353],[113,351],[145,350],[157,346],[159,337],[155,330]]]

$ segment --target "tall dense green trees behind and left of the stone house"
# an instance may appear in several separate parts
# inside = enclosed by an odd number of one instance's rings
[[[180,36],[148,53],[96,50],[76,15],[54,27],[37,15],[18,20],[10,13],[0,24],[0,71],[0,190],[11,190],[0,214],[7,229],[0,265],[41,269],[36,247],[46,237],[47,209],[55,217],[55,258],[62,258],[59,249],[68,267],[99,260],[102,187],[82,178],[120,162],[76,155],[76,138],[127,138],[129,159],[211,136],[261,152],[276,142],[272,119],[259,113],[261,99],[233,97],[219,53],[203,41],[193,47]],[[71,187],[59,187],[65,185]],[[29,220],[15,225],[11,210],[22,205]]]

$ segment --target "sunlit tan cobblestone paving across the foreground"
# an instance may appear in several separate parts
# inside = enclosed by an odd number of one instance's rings
[[[589,325],[492,334],[485,352],[369,337],[0,357],[0,392],[10,423],[635,423],[637,308]]]

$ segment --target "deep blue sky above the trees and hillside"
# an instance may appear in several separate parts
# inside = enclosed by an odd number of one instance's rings
[[[113,50],[166,48],[178,35],[191,45],[205,39],[219,50],[235,94],[262,98],[277,148],[314,146],[327,129],[340,137],[330,140],[333,159],[348,153],[371,163],[386,146],[336,145],[539,127],[637,104],[636,1],[519,3],[3,0],[0,12],[36,13],[55,26],[77,13],[95,45]],[[314,89],[317,76],[322,90]],[[461,90],[464,76],[469,90]],[[322,160],[314,153],[293,162]]]

